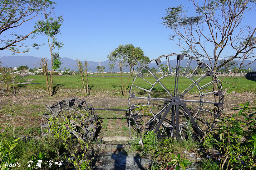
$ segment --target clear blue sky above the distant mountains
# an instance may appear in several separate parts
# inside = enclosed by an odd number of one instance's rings
[[[191,13],[191,2],[185,0],[172,1],[82,1],[73,2],[56,0],[55,15],[63,15],[61,27],[63,48],[59,50],[61,57],[88,60],[98,62],[107,60],[106,56],[119,44],[133,44],[143,49],[145,55],[155,59],[160,55],[180,53],[181,48],[175,47],[173,42],[168,41],[171,30],[163,26],[161,17],[165,16],[165,9],[186,5],[185,9]],[[255,14],[255,9],[253,9]],[[251,14],[250,14],[251,15]],[[252,22],[250,17],[245,22]],[[33,29],[36,19],[22,26],[12,29],[10,32],[26,34]],[[252,24],[249,24],[252,25]],[[255,25],[255,24],[253,24]],[[252,25],[252,26],[253,26]],[[9,32],[9,33],[10,33]],[[5,35],[8,37],[7,32]],[[46,44],[39,50],[31,48],[30,53],[19,54],[35,57],[50,58],[47,37],[37,35],[35,40],[26,40],[25,44],[33,42]],[[1,50],[1,56],[10,56],[12,52]]]

